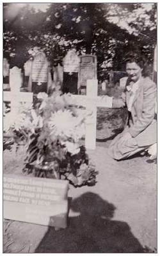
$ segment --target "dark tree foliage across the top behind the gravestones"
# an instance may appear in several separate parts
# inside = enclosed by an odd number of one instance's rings
[[[52,3],[46,12],[17,6],[4,5],[4,52],[16,54],[13,63],[27,58],[34,46],[44,49],[51,65],[72,46],[79,54],[96,54],[98,71],[122,70],[120,60],[131,49],[153,61],[156,3]]]

